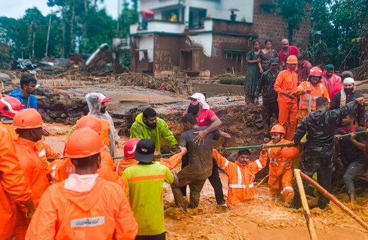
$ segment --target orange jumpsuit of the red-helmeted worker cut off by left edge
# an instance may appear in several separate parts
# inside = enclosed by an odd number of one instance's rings
[[[25,182],[12,136],[0,126],[0,239],[11,239],[15,233],[14,203],[27,203],[31,197],[32,193]]]

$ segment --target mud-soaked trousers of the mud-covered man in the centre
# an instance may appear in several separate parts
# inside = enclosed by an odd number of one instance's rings
[[[176,205],[179,208],[187,208],[186,202],[183,198],[183,193],[180,190],[181,186],[189,185],[190,193],[189,193],[189,205],[188,208],[197,208],[200,204],[200,191],[202,191],[203,185],[205,185],[205,180],[196,180],[196,179],[180,179],[178,186],[171,185],[171,190],[173,191],[173,196]]]

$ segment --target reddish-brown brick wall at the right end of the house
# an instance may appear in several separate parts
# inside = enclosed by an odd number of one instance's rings
[[[264,47],[266,39],[272,40],[272,45],[277,52],[281,49],[281,40],[287,38],[287,27],[284,18],[275,13],[265,13],[260,4],[272,4],[272,0],[254,0],[253,30],[258,35],[261,48]],[[299,49],[306,49],[309,44],[309,30],[311,28],[310,18],[304,18],[299,30],[294,32],[294,42],[290,43]]]

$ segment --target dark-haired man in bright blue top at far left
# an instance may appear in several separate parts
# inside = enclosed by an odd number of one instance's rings
[[[22,105],[23,109],[25,108],[34,108],[38,109],[38,102],[33,95],[36,90],[37,80],[34,76],[23,75],[21,77],[21,88],[13,90],[10,95],[11,97],[16,97]]]

